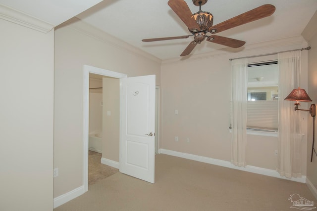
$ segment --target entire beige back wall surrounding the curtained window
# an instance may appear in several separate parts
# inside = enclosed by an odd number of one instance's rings
[[[241,52],[219,50],[204,57],[164,61],[161,68],[162,134],[160,147],[230,161],[230,58],[306,47],[303,38],[248,45]],[[200,55],[201,56],[201,55]],[[267,61],[267,57],[250,59]],[[275,55],[276,59],[276,55]],[[301,87],[307,88],[307,51],[302,51]],[[307,103],[302,103],[307,107]],[[175,115],[175,110],[178,115]],[[307,113],[303,113],[307,134]],[[178,136],[178,141],[175,141]],[[189,143],[186,139],[189,138]],[[302,173],[306,175],[306,138],[303,138]],[[275,170],[277,137],[247,135],[247,165]]]

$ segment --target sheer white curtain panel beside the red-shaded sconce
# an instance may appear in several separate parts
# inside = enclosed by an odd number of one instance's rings
[[[301,140],[299,112],[294,111],[294,102],[284,98],[299,86],[301,51],[278,54],[278,144],[279,159],[277,170],[281,176],[301,177]]]

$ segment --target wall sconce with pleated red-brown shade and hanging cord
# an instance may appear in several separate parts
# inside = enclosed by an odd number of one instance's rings
[[[313,147],[312,147],[312,156],[311,156],[311,162],[313,162],[313,153],[315,152],[314,144],[315,144],[315,116],[316,116],[316,105],[312,104],[310,109],[299,109],[298,106],[301,105],[300,101],[302,102],[312,102],[312,99],[308,96],[307,92],[303,88],[294,88],[293,91],[284,99],[284,100],[291,100],[296,101],[294,103],[295,105],[295,111],[301,110],[301,111],[309,111],[311,116],[313,117]],[[315,152],[316,153],[316,152]]]

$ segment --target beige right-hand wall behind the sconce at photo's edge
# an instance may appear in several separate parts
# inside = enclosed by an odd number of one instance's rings
[[[305,31],[309,45],[312,47],[308,53],[308,94],[313,100],[309,104],[317,104],[317,12],[313,16],[311,22],[306,27]],[[312,31],[313,30],[313,31]],[[316,121],[316,120],[315,120]],[[317,130],[317,122],[315,122],[315,130]],[[315,149],[317,149],[317,138],[315,131]],[[307,144],[307,178],[315,187],[315,197],[317,198],[317,157],[314,154],[313,162],[311,163],[311,153],[313,144],[313,118],[308,118],[308,144]]]

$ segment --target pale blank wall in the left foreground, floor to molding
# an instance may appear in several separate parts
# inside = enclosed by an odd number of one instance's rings
[[[0,19],[0,210],[53,210],[53,50]]]

